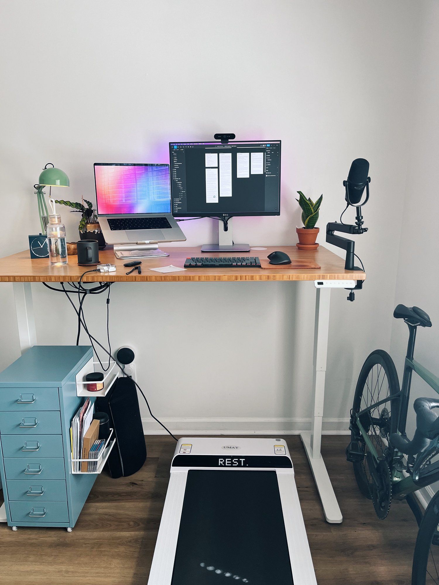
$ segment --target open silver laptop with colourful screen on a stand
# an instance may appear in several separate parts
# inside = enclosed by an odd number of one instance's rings
[[[94,163],[94,178],[105,242],[186,240],[171,214],[169,164]]]

